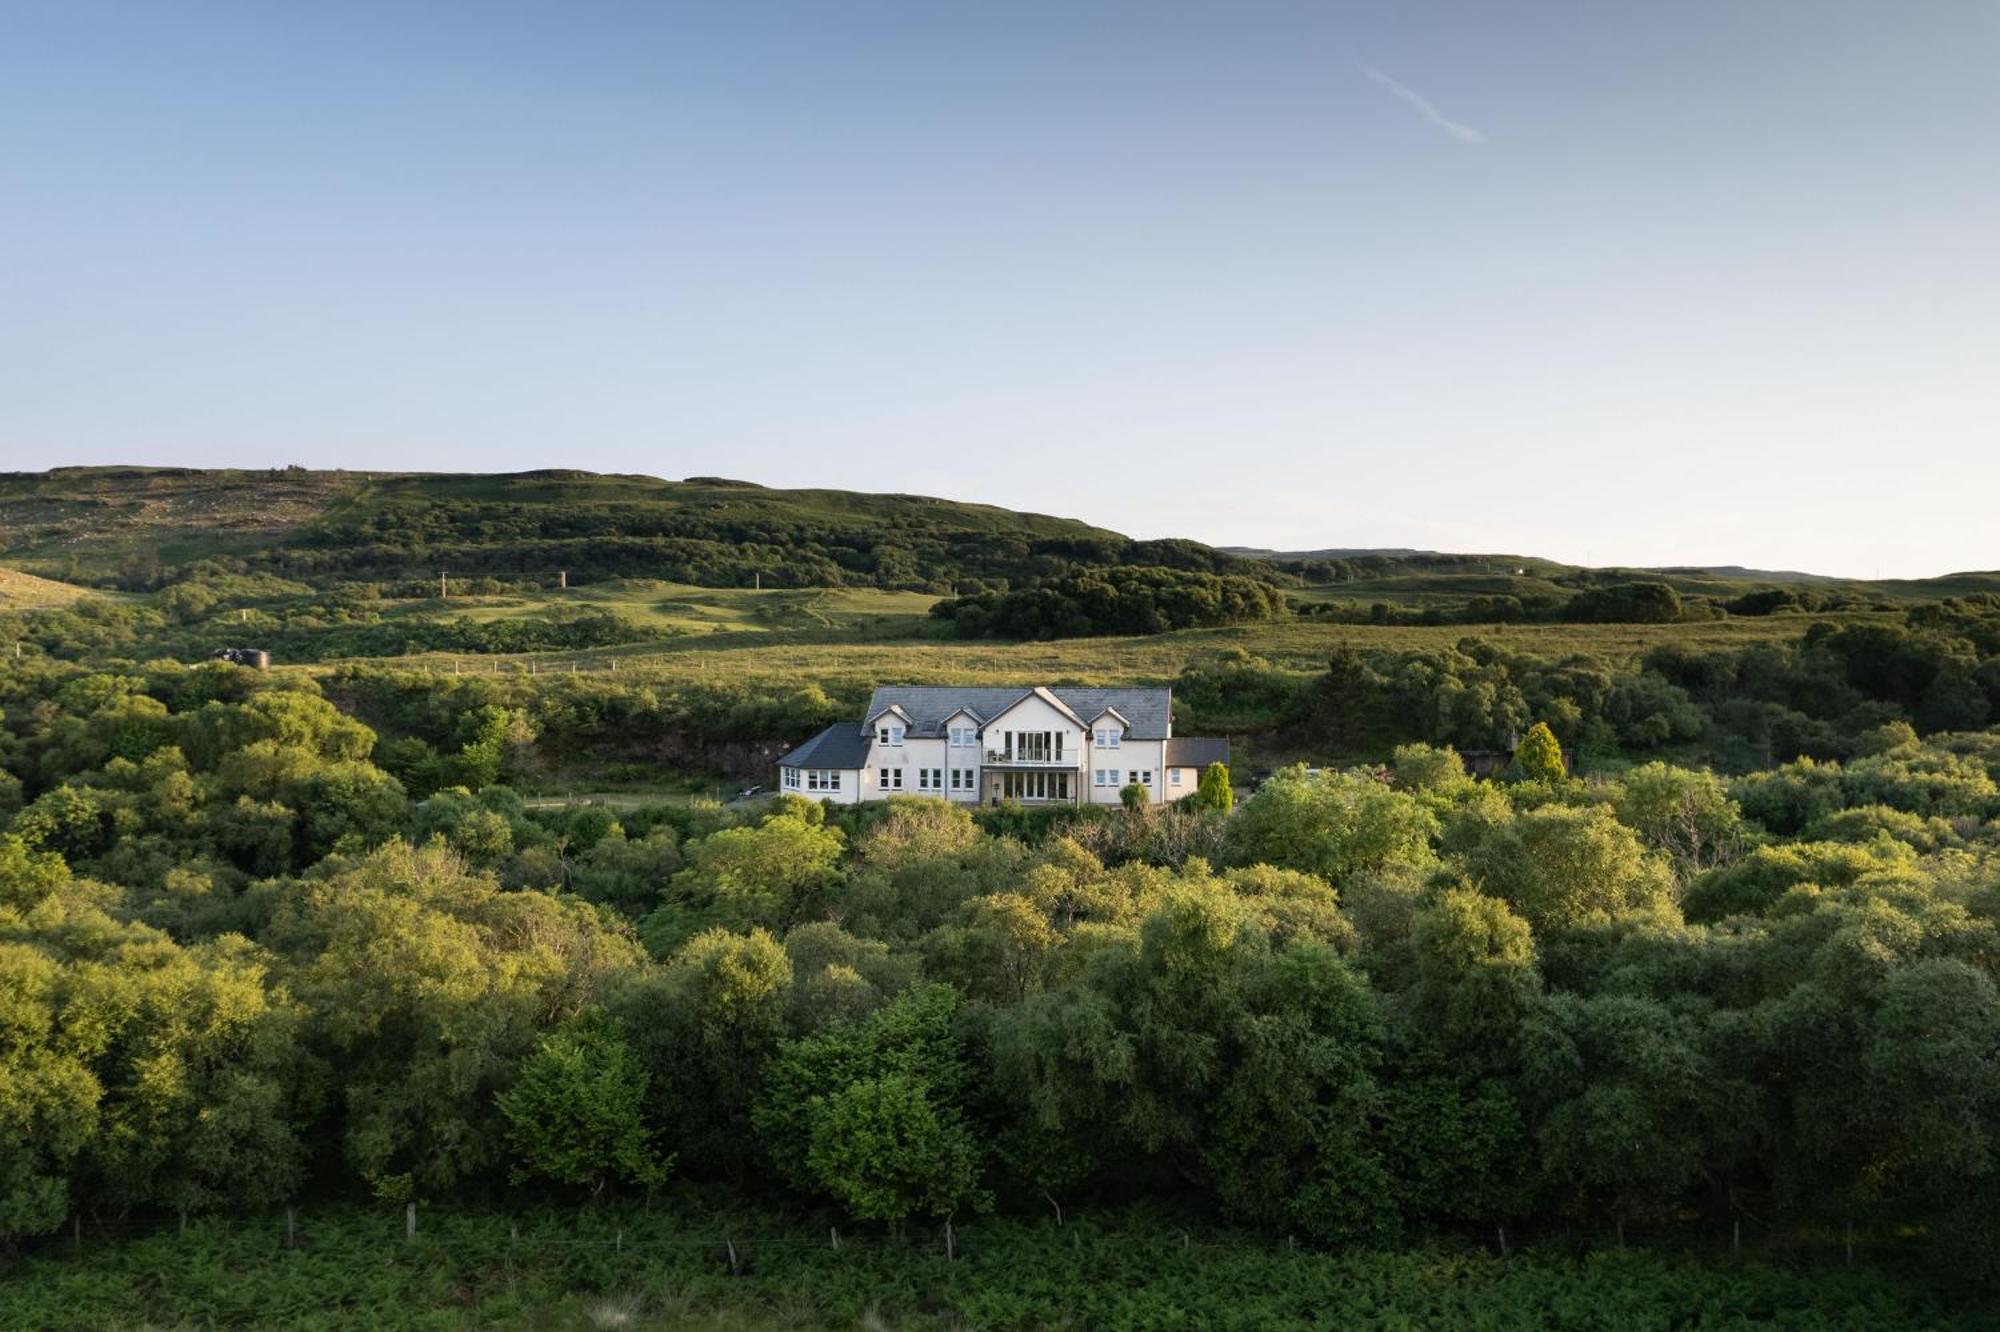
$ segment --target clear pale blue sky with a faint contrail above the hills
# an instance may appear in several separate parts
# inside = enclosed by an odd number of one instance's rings
[[[2000,566],[2000,4],[0,0],[0,466]]]

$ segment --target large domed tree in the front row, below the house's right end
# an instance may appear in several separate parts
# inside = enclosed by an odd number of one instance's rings
[[[1394,1226],[1366,1128],[1380,1038],[1332,948],[1272,948],[1250,904],[1204,880],[1006,1010],[994,1058],[1042,1178],[1198,1170],[1230,1216],[1336,1238]]]

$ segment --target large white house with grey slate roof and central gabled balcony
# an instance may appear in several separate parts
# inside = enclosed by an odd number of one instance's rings
[[[856,804],[938,796],[966,804],[1154,804],[1192,796],[1228,740],[1174,738],[1174,692],[878,686],[868,716],[828,726],[778,760],[778,790]]]

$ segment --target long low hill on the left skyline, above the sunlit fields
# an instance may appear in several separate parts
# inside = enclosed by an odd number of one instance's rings
[[[1236,570],[1200,542],[908,494],[544,470],[56,468],[0,474],[0,560],[78,582],[644,576],[936,594],[1072,568]]]

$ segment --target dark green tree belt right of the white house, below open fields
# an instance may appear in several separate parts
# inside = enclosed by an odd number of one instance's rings
[[[1450,648],[1336,648],[1300,674],[1246,652],[1190,664],[1174,682],[1190,730],[1278,730],[1336,756],[1408,740],[1508,746],[1546,722],[1594,760],[1702,754],[1744,772],[1870,752],[1884,726],[1980,730],[2000,718],[2000,608],[1918,606],[1870,622],[1818,622],[1788,642],[1638,662],[1550,656],[1496,638]]]

